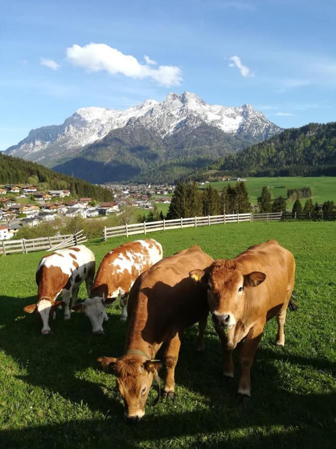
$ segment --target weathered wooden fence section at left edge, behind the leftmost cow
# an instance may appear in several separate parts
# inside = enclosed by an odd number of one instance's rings
[[[53,237],[22,238],[20,240],[2,240],[0,241],[0,254],[11,254],[13,252],[23,252],[26,254],[31,251],[53,251],[59,248],[66,248],[87,241],[83,230],[76,234],[55,235]]]

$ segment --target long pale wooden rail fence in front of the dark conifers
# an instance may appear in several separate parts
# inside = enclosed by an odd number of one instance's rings
[[[211,225],[225,225],[226,223],[241,223],[253,221],[281,220],[282,213],[275,212],[269,214],[231,214],[231,215],[214,215],[208,217],[191,217],[181,218],[175,220],[162,220],[159,222],[143,222],[134,225],[121,225],[106,227],[103,230],[103,238],[106,241],[110,237],[117,237],[119,235],[146,234],[147,232],[154,232],[158,230],[182,229],[183,227],[198,227]]]

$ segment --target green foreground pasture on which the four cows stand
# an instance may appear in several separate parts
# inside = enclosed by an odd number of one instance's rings
[[[266,324],[247,407],[235,398],[238,353],[235,379],[225,383],[209,320],[203,354],[195,353],[196,326],[185,334],[176,399],[151,407],[151,392],[145,419],[134,426],[123,421],[115,378],[96,361],[123,354],[126,324],[119,321],[119,305],[108,310],[105,335],[92,335],[84,315],[65,322],[59,312],[53,334],[42,337],[36,315],[22,309],[36,301],[34,273],[45,253],[0,257],[0,448],[334,448],[335,231],[333,222],[273,222],[152,233],[164,255],[197,243],[215,258],[276,238],[296,259],[299,308],[287,314],[284,349],[274,344],[276,321]],[[124,241],[88,246],[100,262]]]

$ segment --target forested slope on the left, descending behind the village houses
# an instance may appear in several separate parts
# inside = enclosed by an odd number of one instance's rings
[[[54,172],[43,165],[6,156],[0,152],[0,184],[24,184],[30,176],[37,176],[51,190],[68,189],[79,197],[90,197],[99,201],[110,201],[112,193],[79,178]]]

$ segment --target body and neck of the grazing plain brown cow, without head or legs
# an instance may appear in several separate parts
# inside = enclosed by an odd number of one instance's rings
[[[205,288],[189,277],[193,269],[206,268],[213,258],[199,246],[180,251],[142,273],[128,298],[128,334],[144,327],[162,338],[168,328],[188,327],[208,309]]]

